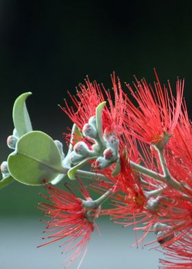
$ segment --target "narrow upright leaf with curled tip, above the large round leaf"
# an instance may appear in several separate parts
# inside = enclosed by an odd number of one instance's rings
[[[29,95],[32,95],[32,93],[28,92],[20,95],[15,100],[12,110],[14,127],[16,128],[16,132],[19,137],[22,137],[23,134],[32,131],[32,124],[25,105],[25,100]]]

